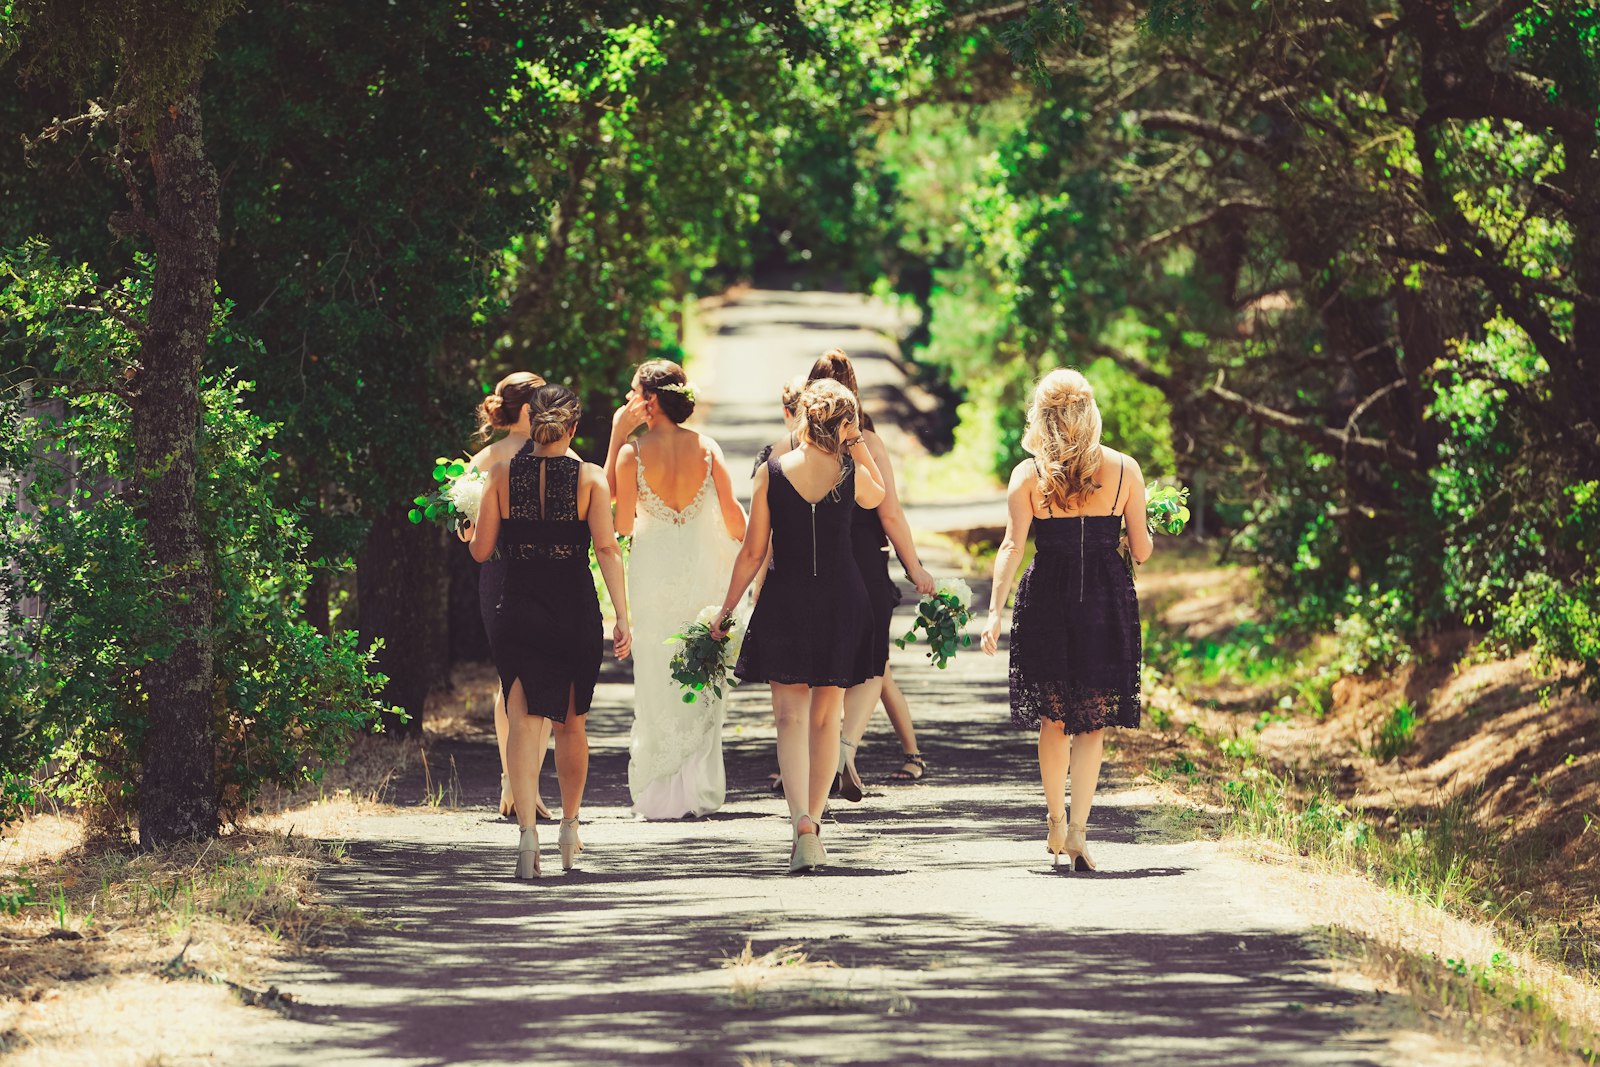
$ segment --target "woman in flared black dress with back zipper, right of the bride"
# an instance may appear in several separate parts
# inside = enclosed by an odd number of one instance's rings
[[[834,381],[800,395],[798,446],[755,472],[750,525],[733,565],[725,619],[773,550],[736,673],[773,689],[778,768],[794,843],[789,870],[814,870],[826,853],[822,808],[838,761],[845,689],[874,670],[870,603],[850,541],[856,506],[877,507],[883,478],[861,434],[856,398]],[[720,629],[712,630],[720,635]]]

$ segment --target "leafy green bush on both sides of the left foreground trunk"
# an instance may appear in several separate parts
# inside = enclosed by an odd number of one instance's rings
[[[22,387],[0,395],[0,821],[43,797],[120,821],[136,801],[146,728],[141,669],[168,654],[130,485],[130,411],[118,370],[136,355],[126,312],[149,298],[149,261],[102,290],[43,245],[0,253],[0,341]],[[250,344],[219,307],[213,346]],[[46,378],[46,374],[50,374]],[[310,582],[301,517],[272,502],[275,432],[250,384],[202,382],[197,502],[213,574],[214,737],[224,811],[267,782],[317,776],[378,725],[373,649],[302,614]]]

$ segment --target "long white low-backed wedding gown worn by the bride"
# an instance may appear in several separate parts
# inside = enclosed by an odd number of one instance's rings
[[[707,606],[722,603],[739,542],[728,536],[706,458],[706,478],[683,510],[645,482],[638,458],[638,506],[629,549],[627,603],[634,616],[634,733],[627,789],[646,819],[702,816],[722,806],[722,705],[710,689],[693,704],[672,680],[674,645]],[[728,680],[731,685],[733,680]],[[725,688],[726,691],[726,688]]]

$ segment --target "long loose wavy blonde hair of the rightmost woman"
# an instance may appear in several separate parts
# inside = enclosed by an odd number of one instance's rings
[[[1078,371],[1050,371],[1027,405],[1022,450],[1038,461],[1038,494],[1053,510],[1070,512],[1099,490],[1104,453],[1094,387]]]

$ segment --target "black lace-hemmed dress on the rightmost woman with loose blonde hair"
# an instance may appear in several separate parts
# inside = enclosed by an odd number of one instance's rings
[[[1117,553],[1117,498],[1110,515],[1034,520],[1011,616],[1011,723],[1022,729],[1045,718],[1069,734],[1139,725],[1139,598]]]

